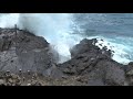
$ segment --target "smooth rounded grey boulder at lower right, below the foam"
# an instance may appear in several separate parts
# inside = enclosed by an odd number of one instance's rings
[[[104,82],[108,85],[124,85],[125,73],[116,62],[101,61],[98,63],[99,75],[103,75]]]

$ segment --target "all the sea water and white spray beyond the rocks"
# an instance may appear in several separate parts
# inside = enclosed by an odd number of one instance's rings
[[[69,50],[82,38],[103,38],[113,59],[133,61],[133,13],[0,13],[0,28],[27,29],[43,36],[60,54],[60,62],[71,58]],[[101,47],[101,46],[99,46]]]

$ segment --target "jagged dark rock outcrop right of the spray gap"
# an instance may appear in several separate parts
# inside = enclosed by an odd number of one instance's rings
[[[89,85],[94,80],[93,85],[124,85],[122,65],[111,58],[110,51],[100,50],[93,42],[96,41],[85,38],[75,45],[71,50],[72,59],[59,65],[60,69],[65,75],[86,77]]]

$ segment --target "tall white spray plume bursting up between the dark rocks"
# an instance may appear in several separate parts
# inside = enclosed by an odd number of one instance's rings
[[[71,59],[69,50],[81,40],[80,36],[72,35],[73,22],[71,16],[68,13],[22,13],[19,16],[18,25],[20,29],[47,38],[51,46],[58,51],[59,63],[63,63]]]

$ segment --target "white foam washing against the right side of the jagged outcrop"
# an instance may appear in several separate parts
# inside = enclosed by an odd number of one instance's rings
[[[125,46],[124,44],[113,43],[113,38],[105,38],[102,36],[91,36],[88,38],[96,38],[98,43],[95,44],[100,48],[103,48],[103,46],[106,46],[108,50],[114,51],[113,53],[113,59],[121,63],[121,64],[129,64],[132,62],[130,58],[130,54],[126,52],[130,46]],[[101,41],[102,40],[102,41]]]

